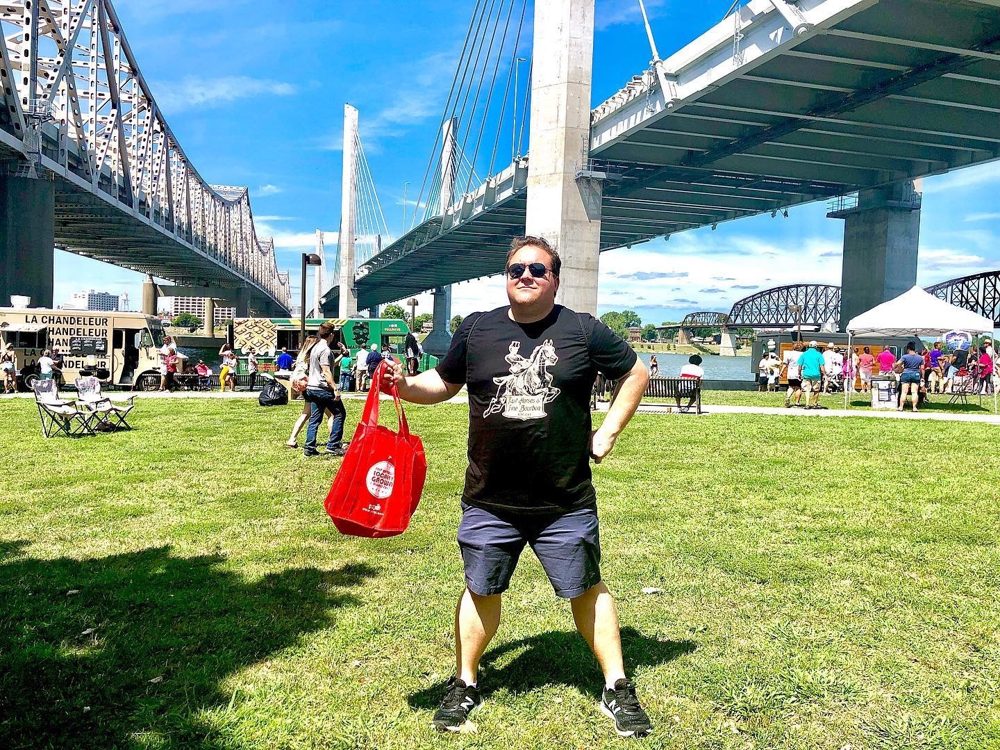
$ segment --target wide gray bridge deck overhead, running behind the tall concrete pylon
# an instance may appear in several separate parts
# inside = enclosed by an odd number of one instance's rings
[[[536,58],[538,28],[536,8]],[[919,180],[1000,157],[997,0],[750,0],[654,61],[566,156],[597,249],[833,198],[841,324],[915,282]],[[551,123],[532,85],[534,150]],[[358,305],[499,272],[536,166],[515,160],[374,255]]]

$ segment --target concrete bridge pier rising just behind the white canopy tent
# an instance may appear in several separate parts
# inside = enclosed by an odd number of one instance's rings
[[[858,204],[831,211],[844,219],[840,330],[852,317],[899,296],[917,282],[922,180],[858,194]]]

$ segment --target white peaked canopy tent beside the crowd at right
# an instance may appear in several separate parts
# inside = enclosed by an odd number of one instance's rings
[[[993,320],[964,307],[956,307],[938,299],[919,286],[914,286],[895,299],[882,302],[867,312],[852,317],[847,323],[847,347],[851,348],[853,336],[941,336],[950,330],[967,330],[969,333],[993,333]],[[997,411],[996,384],[993,389],[993,411]],[[844,408],[847,389],[844,390]]]

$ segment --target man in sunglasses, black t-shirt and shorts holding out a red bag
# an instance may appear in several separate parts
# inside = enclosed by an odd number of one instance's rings
[[[479,660],[500,624],[500,598],[524,546],[541,561],[604,673],[601,709],[622,736],[643,736],[649,718],[625,676],[618,615],[601,580],[597,506],[589,460],[606,458],[635,413],[649,374],[635,352],[592,315],[555,303],[559,254],[518,237],[507,254],[510,305],[466,317],[434,369],[406,377],[390,359],[382,387],[437,404],[469,391],[469,467],[458,545],[466,589],[455,613],[456,674],[434,726],[459,731],[482,703]],[[591,432],[597,373],[621,383]],[[544,669],[544,665],[539,665]]]

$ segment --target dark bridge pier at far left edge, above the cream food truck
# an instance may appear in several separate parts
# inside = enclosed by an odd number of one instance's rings
[[[55,183],[0,175],[0,305],[12,294],[52,307]]]

